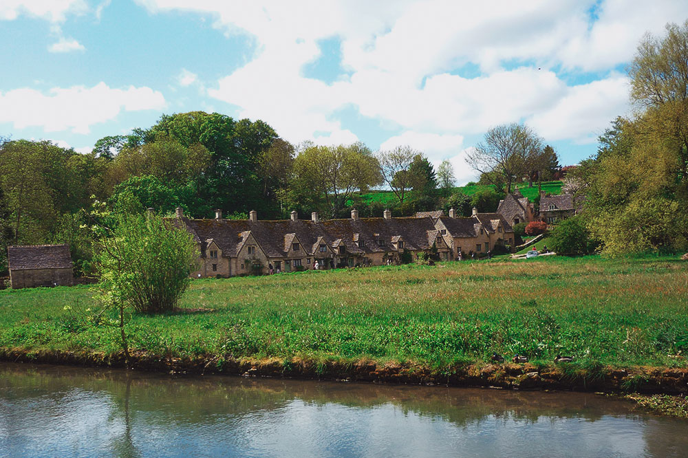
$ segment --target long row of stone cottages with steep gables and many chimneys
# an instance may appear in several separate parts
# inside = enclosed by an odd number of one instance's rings
[[[259,220],[251,211],[248,220],[189,219],[181,208],[176,223],[191,232],[200,251],[200,270],[192,276],[235,276],[320,268],[354,267],[399,263],[404,252],[415,259],[419,252],[437,252],[439,259],[458,259],[494,250],[495,246],[514,245],[510,224],[497,213],[478,213],[471,217],[449,217],[431,212],[421,217],[391,217],[385,210],[381,218],[360,218],[352,210],[350,219],[321,221],[317,213],[310,220]]]

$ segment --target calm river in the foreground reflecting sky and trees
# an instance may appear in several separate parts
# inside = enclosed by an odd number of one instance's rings
[[[685,456],[688,422],[585,393],[0,363],[0,455]]]

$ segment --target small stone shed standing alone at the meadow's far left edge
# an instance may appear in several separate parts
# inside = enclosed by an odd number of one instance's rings
[[[12,288],[74,284],[68,245],[10,246],[7,249]]]

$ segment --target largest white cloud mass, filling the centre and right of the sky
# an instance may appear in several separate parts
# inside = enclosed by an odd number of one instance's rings
[[[627,108],[614,67],[632,58],[645,31],[688,17],[680,0],[138,3],[153,13],[208,14],[226,34],[255,39],[252,60],[208,95],[292,142],[353,138],[332,116],[349,105],[421,136],[526,120],[546,140],[587,142]],[[350,76],[332,85],[305,78],[318,41],[335,36]],[[596,81],[569,85],[570,72]]]

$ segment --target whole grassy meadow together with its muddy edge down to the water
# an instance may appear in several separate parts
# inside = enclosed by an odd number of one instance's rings
[[[688,263],[464,261],[193,281],[134,315],[136,369],[361,382],[685,393]],[[123,367],[89,287],[0,292],[0,356]],[[493,353],[528,356],[493,364]],[[555,364],[557,354],[574,361]]]

